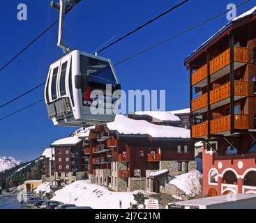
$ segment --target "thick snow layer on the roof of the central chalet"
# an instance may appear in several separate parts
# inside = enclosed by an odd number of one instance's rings
[[[154,125],[144,120],[134,120],[126,116],[116,115],[114,122],[107,123],[109,130],[119,134],[149,134],[154,138],[190,138],[190,130],[164,125]]]

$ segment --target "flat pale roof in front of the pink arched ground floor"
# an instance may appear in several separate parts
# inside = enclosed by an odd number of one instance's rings
[[[236,194],[236,201],[244,200],[244,199],[256,199],[256,194]],[[220,203],[227,203],[234,201],[227,201],[227,195],[218,196],[218,197],[206,197],[202,199],[195,199],[190,201],[179,201],[176,202],[176,205],[180,206],[211,206]]]

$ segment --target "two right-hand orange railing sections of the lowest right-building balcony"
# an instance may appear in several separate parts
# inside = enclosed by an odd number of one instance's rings
[[[234,116],[234,129],[246,130],[249,128],[248,115],[236,114]],[[217,118],[211,121],[211,134],[225,132],[231,129],[231,116]]]

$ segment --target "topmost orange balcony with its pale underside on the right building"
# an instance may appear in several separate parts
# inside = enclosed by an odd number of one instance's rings
[[[234,47],[234,69],[248,63],[248,48],[246,47]],[[225,50],[222,54],[216,56],[216,58],[210,61],[210,75],[211,82],[215,82],[216,79],[227,75],[230,72],[230,49]],[[197,87],[203,87],[207,84],[207,64],[196,70],[192,75],[192,85]]]

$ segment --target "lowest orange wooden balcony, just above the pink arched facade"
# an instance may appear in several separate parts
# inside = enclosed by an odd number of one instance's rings
[[[236,114],[234,116],[235,130],[248,130],[249,116]],[[211,121],[211,134],[225,134],[231,130],[231,116],[224,116],[222,118]],[[208,122],[200,123],[192,126],[192,137],[206,137],[208,134]]]

